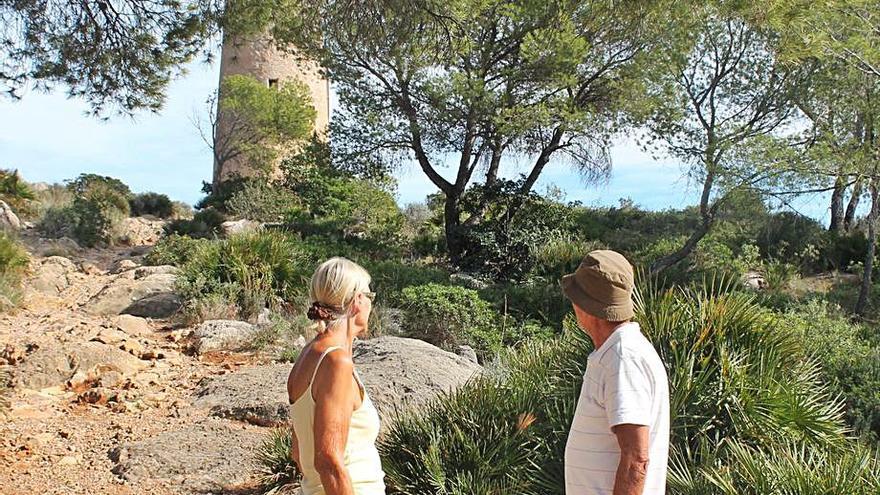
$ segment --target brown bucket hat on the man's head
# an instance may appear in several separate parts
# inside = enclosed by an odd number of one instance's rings
[[[629,320],[635,315],[633,268],[615,251],[592,251],[578,269],[562,277],[562,292],[587,313],[607,321]]]

